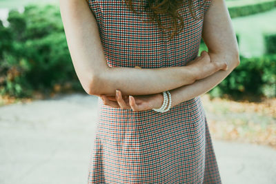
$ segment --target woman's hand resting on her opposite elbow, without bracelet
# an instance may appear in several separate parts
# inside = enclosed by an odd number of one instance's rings
[[[204,79],[218,70],[228,69],[228,64],[225,61],[211,61],[210,55],[205,50],[200,53],[200,57],[190,61],[187,65],[190,65],[192,70],[195,71],[194,73],[196,80]]]

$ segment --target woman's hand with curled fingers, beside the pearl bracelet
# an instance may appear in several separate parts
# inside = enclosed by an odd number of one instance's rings
[[[116,96],[100,95],[104,105],[123,110],[133,111],[152,110],[160,108],[163,103],[163,94],[149,94],[138,96],[121,96],[121,91],[117,90]]]

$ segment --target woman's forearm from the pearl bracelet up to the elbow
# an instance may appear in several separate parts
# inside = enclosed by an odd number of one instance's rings
[[[239,59],[237,59],[237,57],[225,57],[222,54],[210,54],[210,57],[211,60],[216,61],[227,59],[227,62],[229,63],[228,70],[219,70],[204,79],[195,81],[193,84],[170,90],[170,94],[172,95],[172,107],[212,90],[216,85],[221,83],[221,81],[223,81],[226,76],[237,67],[237,65],[239,65]]]

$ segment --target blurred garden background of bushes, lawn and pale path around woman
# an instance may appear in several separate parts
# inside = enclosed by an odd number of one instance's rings
[[[223,183],[276,183],[276,0],[226,0],[240,65],[201,95]],[[0,0],[0,183],[86,183],[97,96],[57,0]],[[199,53],[207,50],[201,40]]]

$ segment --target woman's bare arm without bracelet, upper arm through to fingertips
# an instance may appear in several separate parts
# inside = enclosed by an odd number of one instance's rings
[[[170,68],[110,68],[99,37],[97,21],[86,0],[59,0],[72,62],[83,89],[91,95],[157,94],[194,83],[219,70],[226,61],[203,60]],[[126,77],[128,76],[128,77]]]

